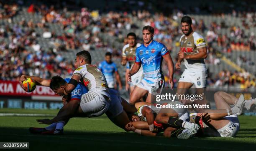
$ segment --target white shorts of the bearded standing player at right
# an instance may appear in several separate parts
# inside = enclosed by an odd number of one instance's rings
[[[195,88],[204,88],[207,83],[207,71],[190,72],[188,69],[185,69],[179,78],[179,82],[189,82]]]

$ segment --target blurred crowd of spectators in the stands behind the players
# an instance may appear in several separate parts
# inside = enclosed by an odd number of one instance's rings
[[[22,8],[17,4],[0,2],[0,20],[12,22],[13,17]],[[198,9],[194,11],[199,11],[200,9]],[[207,8],[207,10],[211,9]],[[152,14],[146,10],[133,10],[131,13],[126,11],[101,13],[99,10],[89,10],[86,7],[69,11],[65,6],[56,9],[54,5],[44,4],[31,4],[26,7],[26,11],[41,18],[39,21],[22,19],[13,27],[8,25],[0,27],[1,80],[17,80],[20,74],[33,74],[43,78],[49,78],[56,74],[63,77],[70,76],[74,65],[60,55],[60,52],[63,51],[93,51],[103,48],[105,51],[112,52],[115,58],[120,58],[122,46],[127,44],[124,33],[127,31],[141,33],[141,27],[145,25],[154,27],[156,41],[164,43],[170,51],[179,50],[179,37],[182,35],[179,19],[184,15],[184,12],[177,8],[169,12],[169,15],[165,15],[161,12]],[[243,27],[229,27],[225,22],[217,24],[214,21],[210,25],[206,25],[204,20],[195,20],[194,18],[192,20],[194,30],[202,33],[207,41],[206,63],[208,64],[221,63],[220,58],[216,56],[217,52],[232,53],[234,50],[256,50],[254,33],[246,34],[245,32],[251,27],[256,27],[255,12],[233,10],[229,15],[239,17],[243,22]],[[218,16],[223,17],[224,14],[218,14]],[[59,30],[51,30],[50,26],[52,25],[58,25]],[[39,34],[36,29],[41,29],[43,32]],[[229,30],[230,34],[219,33],[218,31],[221,29]],[[140,36],[138,35],[138,41],[142,42]],[[111,37],[110,39],[113,41],[106,40],[106,37]],[[46,39],[49,42],[49,48],[46,49],[44,45],[41,45],[38,38]],[[114,42],[118,42],[120,45],[116,45]],[[254,65],[253,61],[248,61],[246,58],[239,57],[239,59],[238,65],[243,60]],[[168,71],[166,64],[163,65],[163,71]],[[215,82],[217,84],[233,84],[233,81],[240,83],[245,81],[244,83],[246,83],[248,79],[248,77],[244,77],[244,80],[239,78],[230,80],[230,77],[234,77],[234,75],[237,77],[240,73],[228,74],[226,72],[228,80],[227,78],[225,80],[209,77],[211,79],[208,82],[209,85]],[[167,73],[165,75],[168,77]],[[180,71],[175,71],[174,75],[180,75]],[[174,81],[178,79],[179,76],[174,77]],[[250,79],[250,81],[252,80]]]

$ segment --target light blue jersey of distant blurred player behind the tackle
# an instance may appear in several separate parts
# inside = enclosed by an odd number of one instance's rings
[[[117,67],[116,64],[114,62],[108,63],[106,61],[102,61],[99,64],[98,67],[101,72],[104,74],[107,82],[114,82],[114,73],[117,72]]]

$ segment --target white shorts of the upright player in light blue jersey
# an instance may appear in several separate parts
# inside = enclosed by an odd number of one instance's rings
[[[161,94],[164,88],[164,79],[153,84],[149,84],[148,82],[146,82],[145,79],[142,79],[141,82],[137,85],[137,87],[145,89],[148,91],[148,93],[153,95]]]

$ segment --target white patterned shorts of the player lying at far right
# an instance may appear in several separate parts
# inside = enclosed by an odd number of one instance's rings
[[[230,120],[230,122],[222,127],[221,129],[218,129],[217,131],[220,133],[221,137],[234,137],[236,136],[237,132],[239,131],[240,124],[237,115],[230,115],[225,116],[225,119]]]

